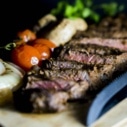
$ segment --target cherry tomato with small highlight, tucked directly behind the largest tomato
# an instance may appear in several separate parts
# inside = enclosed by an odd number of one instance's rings
[[[32,46],[39,51],[39,53],[41,54],[42,60],[45,60],[51,57],[51,49],[47,47],[46,45],[43,45],[41,43],[34,43],[32,44]]]

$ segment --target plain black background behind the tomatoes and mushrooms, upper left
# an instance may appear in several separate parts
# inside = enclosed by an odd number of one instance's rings
[[[0,1],[0,45],[14,39],[16,32],[32,28],[37,20],[56,6],[58,0],[11,0]],[[70,0],[73,2],[73,0]],[[111,0],[94,0],[95,4]],[[125,0],[116,0],[127,4]]]

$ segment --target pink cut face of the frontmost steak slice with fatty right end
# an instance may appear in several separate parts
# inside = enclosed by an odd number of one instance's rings
[[[26,89],[43,89],[43,90],[51,90],[51,91],[65,91],[68,93],[68,99],[80,99],[84,98],[85,91],[88,89],[89,84],[87,81],[78,81],[75,82],[73,80],[64,80],[60,78],[56,78],[54,80],[51,79],[38,79],[31,80],[31,82],[27,82]]]

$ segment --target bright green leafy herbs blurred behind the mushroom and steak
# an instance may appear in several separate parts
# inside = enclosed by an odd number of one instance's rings
[[[97,12],[98,9],[105,15],[114,16],[124,10],[124,5],[117,2],[95,5],[93,0],[75,0],[73,3],[69,3],[68,0],[60,0],[56,8],[51,10],[51,14],[67,18],[81,17],[98,22],[101,18]]]

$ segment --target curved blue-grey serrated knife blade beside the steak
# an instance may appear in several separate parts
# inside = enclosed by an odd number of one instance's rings
[[[93,100],[86,119],[87,126],[125,97],[127,97],[127,72],[106,86]]]

